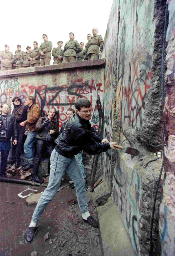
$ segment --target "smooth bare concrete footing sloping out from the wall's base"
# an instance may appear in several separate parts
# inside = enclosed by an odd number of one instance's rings
[[[120,214],[113,197],[97,208],[99,220],[102,255],[103,256],[134,256],[135,253],[127,237]]]

